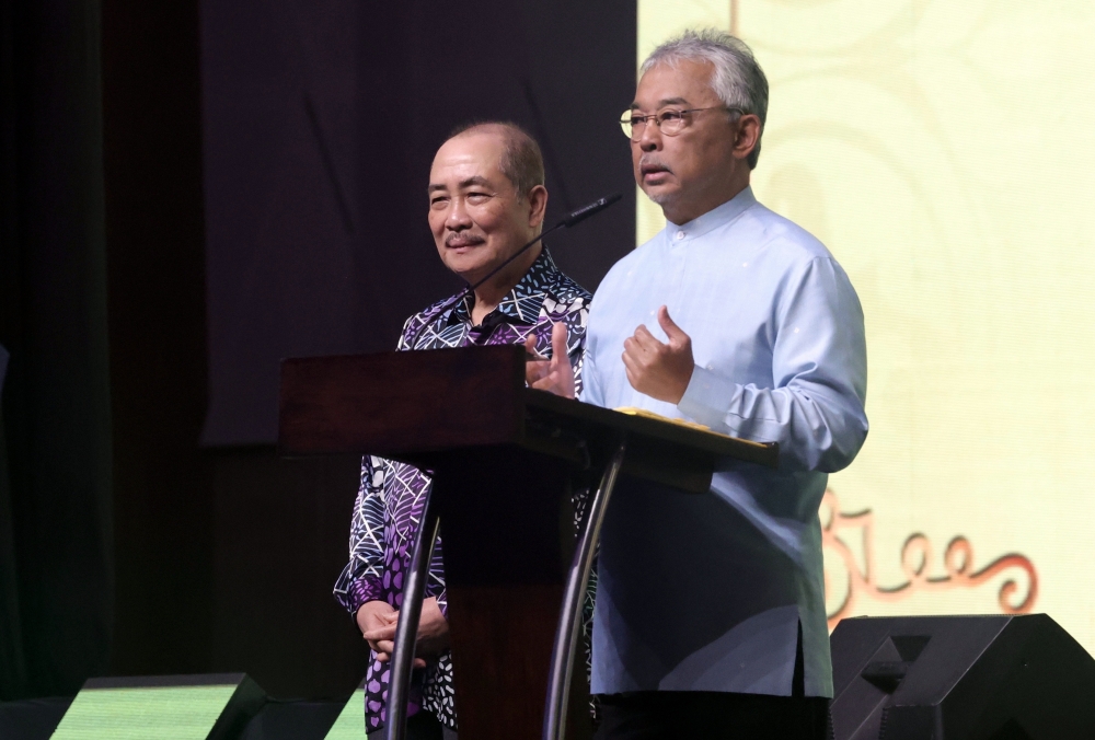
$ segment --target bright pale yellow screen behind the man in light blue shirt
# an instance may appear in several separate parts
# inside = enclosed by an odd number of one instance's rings
[[[863,302],[872,430],[822,507],[830,616],[1046,612],[1095,651],[1095,4],[638,7],[639,60],[688,26],[752,46],[757,196]],[[662,224],[639,194],[638,242]]]

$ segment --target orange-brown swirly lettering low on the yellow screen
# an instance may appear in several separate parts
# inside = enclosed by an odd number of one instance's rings
[[[845,529],[858,529],[863,537],[863,562],[861,570],[855,554],[842,541],[839,533]],[[1005,570],[1026,573],[1026,592],[1016,601],[1019,583],[1014,577],[1005,580],[998,594],[1000,609],[1004,614],[1026,614],[1034,609],[1038,598],[1038,574],[1034,564],[1024,555],[1010,553],[981,568],[973,569],[973,546],[964,536],[954,537],[943,553],[945,576],[931,576],[933,569],[932,546],[927,537],[917,533],[910,535],[901,546],[901,570],[908,580],[894,587],[880,587],[876,581],[874,547],[874,513],[869,509],[858,513],[841,513],[840,502],[832,490],[827,490],[821,500],[821,546],[839,557],[846,571],[848,585],[839,606],[829,614],[829,628],[852,614],[856,601],[868,596],[878,601],[900,601],[917,591],[946,591],[956,588],[977,588]],[[827,564],[831,564],[831,559]],[[826,569],[826,594],[832,591],[829,569]]]

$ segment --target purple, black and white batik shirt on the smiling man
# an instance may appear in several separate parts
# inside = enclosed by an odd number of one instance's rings
[[[472,325],[471,297],[451,308],[443,308],[451,299],[438,301],[406,321],[399,349],[523,344],[532,335],[537,351],[551,357],[552,325],[562,323],[567,329],[567,355],[580,389],[590,299],[589,291],[558,271],[545,248],[482,324]],[[335,599],[351,616],[367,601],[383,600],[401,608],[403,578],[411,565],[412,543],[429,486],[429,477],[413,465],[362,458],[361,484],[350,523],[349,563],[334,589]],[[576,511],[583,505],[584,500],[576,501]],[[448,614],[440,539],[430,563],[426,597],[436,597],[441,613]],[[587,620],[591,618],[589,605],[587,600]],[[377,660],[376,654],[371,658],[365,692],[366,728],[370,732],[383,727],[387,720],[390,679],[389,664]],[[407,716],[424,708],[456,729],[454,697],[452,657],[446,652],[428,661],[425,669],[413,672]]]

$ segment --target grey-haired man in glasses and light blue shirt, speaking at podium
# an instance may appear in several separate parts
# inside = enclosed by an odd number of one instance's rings
[[[581,401],[779,442],[780,466],[727,460],[700,496],[621,481],[598,563],[597,737],[821,738],[818,507],[867,433],[862,309],[825,245],[749,187],[768,83],[748,47],[688,32],[642,73],[622,124],[668,224],[597,290]],[[542,365],[534,385],[573,395],[569,367]]]

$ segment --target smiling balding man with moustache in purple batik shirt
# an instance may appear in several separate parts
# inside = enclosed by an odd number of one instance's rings
[[[511,124],[460,129],[434,159],[428,195],[429,226],[441,261],[473,285],[540,233],[548,204],[540,149]],[[551,354],[552,326],[561,324],[569,363],[580,379],[589,299],[537,245],[454,305],[446,308],[447,299],[411,316],[399,349],[525,344],[531,338],[540,354]],[[335,598],[355,616],[372,649],[366,678],[370,738],[381,735],[387,719],[389,658],[403,579],[429,486],[429,478],[412,465],[373,456],[361,461],[350,562],[335,585]],[[451,738],[457,718],[440,540],[426,597],[407,731],[413,739]]]

